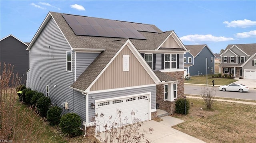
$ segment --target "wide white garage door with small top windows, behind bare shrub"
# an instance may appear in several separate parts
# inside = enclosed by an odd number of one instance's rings
[[[149,94],[96,102],[96,114],[98,114],[98,118],[96,118],[96,131],[105,131],[104,125],[111,127],[112,123],[120,122],[117,119],[117,109],[122,111],[121,121],[124,125],[133,123],[132,111],[135,112],[134,118],[138,118],[140,121],[146,121],[149,119],[149,114],[151,114],[149,107]],[[104,114],[103,118],[100,118],[100,114]],[[109,119],[110,116],[112,119]],[[116,127],[120,127],[120,125]]]

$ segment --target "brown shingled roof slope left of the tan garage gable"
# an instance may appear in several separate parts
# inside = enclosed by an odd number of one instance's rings
[[[83,91],[86,90],[127,40],[108,41],[106,50],[98,55],[70,87]]]

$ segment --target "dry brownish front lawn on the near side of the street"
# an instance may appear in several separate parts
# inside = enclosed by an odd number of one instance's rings
[[[172,114],[184,120],[173,126],[174,129],[206,143],[255,143],[255,105],[215,101],[213,109],[208,110],[202,99],[187,99],[193,102],[190,113]]]

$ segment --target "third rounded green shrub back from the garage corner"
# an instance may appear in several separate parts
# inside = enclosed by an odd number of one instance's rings
[[[51,99],[49,97],[40,97],[36,102],[37,110],[42,117],[46,117],[47,111],[51,106]]]

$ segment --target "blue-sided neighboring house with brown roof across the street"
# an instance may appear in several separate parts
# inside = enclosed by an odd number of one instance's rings
[[[184,69],[190,76],[214,74],[215,55],[207,45],[185,45],[188,53],[184,55]],[[206,68],[207,58],[207,68]]]

